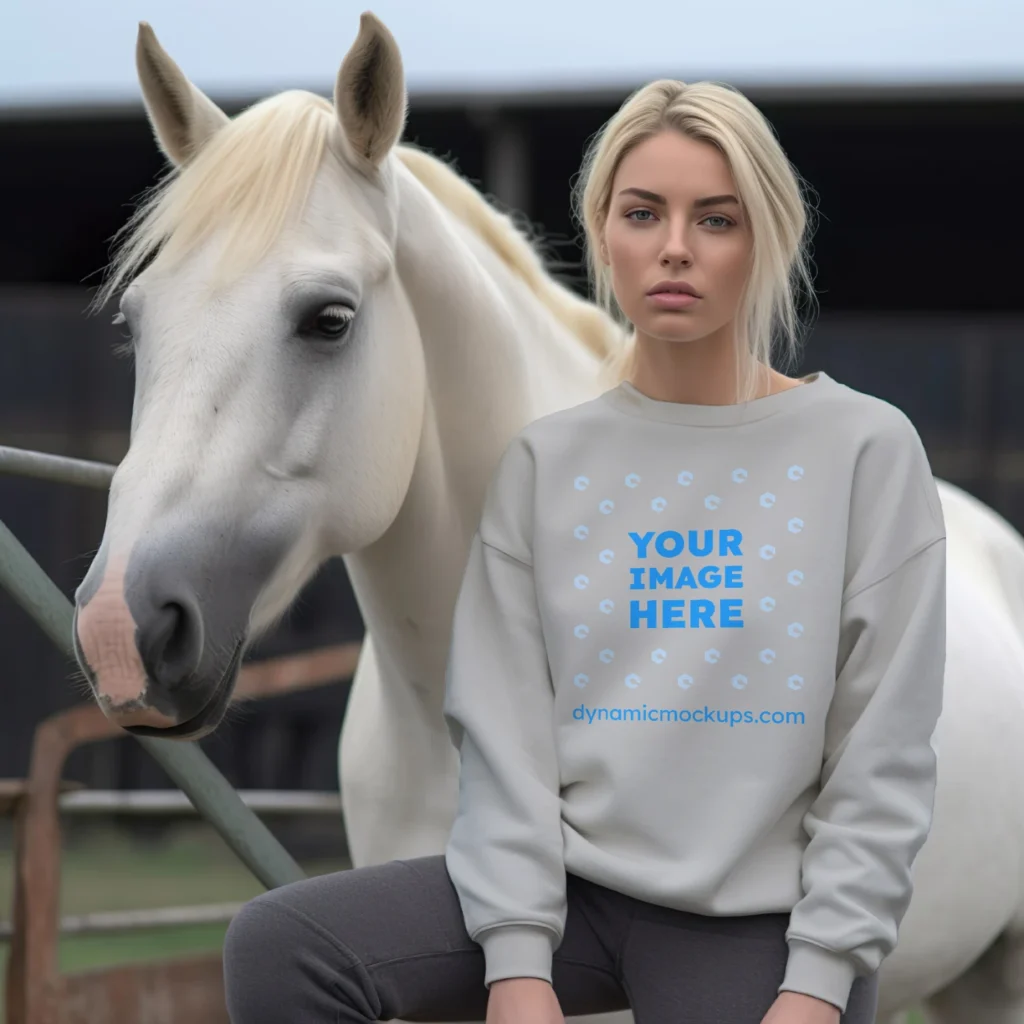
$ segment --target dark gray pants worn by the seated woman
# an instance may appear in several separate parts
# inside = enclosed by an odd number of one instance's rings
[[[759,1024],[785,968],[786,913],[708,918],[569,876],[553,981],[566,1016],[632,1008],[637,1024]],[[224,943],[231,1024],[482,1021],[483,953],[443,857],[286,886],[248,903]],[[874,1020],[857,978],[844,1024]],[[527,1022],[524,1022],[527,1024]]]

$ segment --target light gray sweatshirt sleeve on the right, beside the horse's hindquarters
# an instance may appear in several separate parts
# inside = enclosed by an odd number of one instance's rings
[[[921,441],[894,427],[853,482],[836,689],[780,986],[841,1010],[896,945],[935,795],[945,529]]]

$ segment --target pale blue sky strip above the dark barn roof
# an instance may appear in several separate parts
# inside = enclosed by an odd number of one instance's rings
[[[358,31],[343,0],[3,0],[0,109],[135,104],[148,22],[214,98],[330,93]],[[1024,89],[1024,0],[374,0],[411,96],[969,83]]]

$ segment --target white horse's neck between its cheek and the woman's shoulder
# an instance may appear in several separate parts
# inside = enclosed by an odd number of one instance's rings
[[[345,561],[382,685],[411,684],[436,712],[455,600],[497,462],[526,423],[597,393],[597,361],[402,171],[396,270],[422,338],[427,400],[398,516]]]

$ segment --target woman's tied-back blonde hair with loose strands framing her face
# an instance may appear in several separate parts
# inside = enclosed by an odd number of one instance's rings
[[[786,368],[799,356],[801,293],[814,303],[809,255],[814,210],[805,202],[802,179],[771,125],[736,89],[715,82],[651,82],[633,93],[592,139],[573,188],[573,208],[585,234],[594,295],[611,316],[625,322],[610,270],[599,255],[611,188],[626,155],[670,129],[722,153],[751,224],[753,261],[736,315],[737,395],[750,400],[760,367],[770,368],[777,349]],[[628,376],[635,354],[634,335],[605,360],[606,374],[615,381]]]

